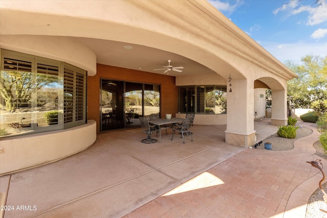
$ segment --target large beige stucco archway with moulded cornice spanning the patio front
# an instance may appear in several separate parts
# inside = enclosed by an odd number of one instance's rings
[[[0,21],[2,48],[48,58],[56,56],[87,68],[89,76],[96,74],[97,56],[106,51],[95,54],[91,47],[82,43],[78,46],[80,41],[62,42],[83,37],[133,43],[178,54],[219,75],[212,80],[197,72],[193,81],[201,77],[206,84],[219,80],[226,84],[231,76],[233,91],[227,94],[229,108],[235,110],[228,114],[227,133],[246,135],[246,145],[253,141],[253,124],[248,122],[253,119],[253,106],[247,107],[253,105],[253,75],[263,78],[261,81],[271,86],[276,98],[282,99],[286,81],[294,78],[289,69],[206,1],[96,1],[91,5],[87,1],[4,1]],[[40,39],[43,45],[35,46]],[[54,55],[58,47],[64,46],[69,53]],[[78,51],[74,51],[75,46]],[[282,86],[276,81],[281,81]],[[276,113],[276,118],[283,119],[283,114]],[[243,142],[230,141],[244,146]]]

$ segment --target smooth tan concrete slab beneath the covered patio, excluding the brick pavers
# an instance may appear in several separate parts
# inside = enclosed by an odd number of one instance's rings
[[[258,140],[277,127],[255,122]],[[0,177],[5,205],[31,205],[4,217],[121,217],[245,150],[225,143],[226,126],[192,127],[193,139],[144,144],[141,129],[98,134],[89,149]],[[36,210],[33,210],[33,206]]]

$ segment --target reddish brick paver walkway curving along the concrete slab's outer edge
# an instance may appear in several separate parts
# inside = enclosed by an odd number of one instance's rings
[[[319,133],[301,126],[313,133],[294,149],[246,149],[124,217],[305,217],[322,176],[307,163],[321,159],[313,148]]]

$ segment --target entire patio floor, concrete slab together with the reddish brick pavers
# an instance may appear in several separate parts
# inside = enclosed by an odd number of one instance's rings
[[[254,126],[257,141],[277,131]],[[74,156],[0,177],[14,206],[4,217],[305,217],[321,175],[306,163],[319,159],[319,133],[302,126],[313,134],[286,152],[227,144],[225,126],[194,126],[185,144],[171,130],[154,144],[140,129],[99,134]]]

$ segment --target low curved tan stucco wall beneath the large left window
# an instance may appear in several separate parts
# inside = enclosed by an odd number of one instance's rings
[[[94,120],[67,130],[1,139],[0,175],[60,160],[88,148],[96,139]]]

